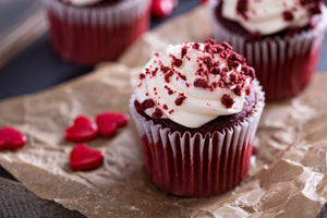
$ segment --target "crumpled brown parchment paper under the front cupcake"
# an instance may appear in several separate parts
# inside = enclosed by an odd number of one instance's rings
[[[267,104],[249,177],[223,195],[183,198],[159,191],[147,180],[133,122],[111,140],[88,143],[105,154],[102,167],[70,169],[74,144],[64,141],[63,131],[76,116],[129,112],[134,77],[153,50],[209,35],[206,10],[198,8],[146,34],[120,63],[0,102],[0,126],[28,136],[23,149],[1,152],[0,165],[38,196],[88,217],[315,217],[327,197],[327,75],[322,74],[299,97]]]

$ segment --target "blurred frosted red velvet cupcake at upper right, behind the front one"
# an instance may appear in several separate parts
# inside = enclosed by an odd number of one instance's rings
[[[327,26],[322,0],[211,0],[214,38],[253,65],[267,99],[296,96],[312,80]]]

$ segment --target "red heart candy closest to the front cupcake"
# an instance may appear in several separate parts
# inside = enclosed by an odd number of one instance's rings
[[[104,112],[97,116],[96,122],[104,137],[114,135],[117,128],[128,124],[130,118],[121,112]]]

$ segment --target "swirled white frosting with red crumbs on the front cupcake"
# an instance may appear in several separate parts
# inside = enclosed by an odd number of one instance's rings
[[[135,95],[147,116],[198,128],[240,112],[253,78],[254,70],[231,46],[207,39],[155,53],[140,74]]]

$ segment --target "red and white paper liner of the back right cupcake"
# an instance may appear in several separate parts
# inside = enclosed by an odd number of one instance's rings
[[[312,80],[327,26],[327,15],[311,31],[293,37],[267,37],[246,41],[246,38],[223,27],[215,15],[219,1],[210,1],[209,20],[217,41],[229,43],[237,52],[253,65],[267,99],[296,96]],[[326,14],[326,9],[323,10]]]

